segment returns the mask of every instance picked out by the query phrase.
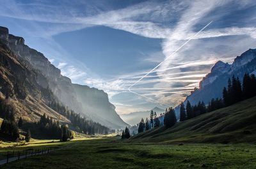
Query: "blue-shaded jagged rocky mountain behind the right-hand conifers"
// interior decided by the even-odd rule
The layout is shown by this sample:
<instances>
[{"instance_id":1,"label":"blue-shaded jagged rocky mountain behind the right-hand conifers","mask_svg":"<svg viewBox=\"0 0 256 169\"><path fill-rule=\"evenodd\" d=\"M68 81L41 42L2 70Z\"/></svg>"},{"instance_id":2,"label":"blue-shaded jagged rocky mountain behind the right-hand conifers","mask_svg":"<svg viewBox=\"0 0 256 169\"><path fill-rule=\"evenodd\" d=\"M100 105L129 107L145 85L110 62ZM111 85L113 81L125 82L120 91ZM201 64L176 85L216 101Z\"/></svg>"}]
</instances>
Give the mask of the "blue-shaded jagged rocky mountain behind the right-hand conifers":
<instances>
[{"instance_id":1,"label":"blue-shaded jagged rocky mountain behind the right-hand conifers","mask_svg":"<svg viewBox=\"0 0 256 169\"><path fill-rule=\"evenodd\" d=\"M245 73L256 74L256 49L249 49L237 56L232 64L216 62L211 72L201 80L199 89L191 92L184 104L186 105L188 100L192 105L198 101L207 104L212 98L222 98L222 90L223 87L227 87L228 78L234 75L242 82ZM175 107L175 112L179 117L179 107Z\"/></svg>"}]
</instances>

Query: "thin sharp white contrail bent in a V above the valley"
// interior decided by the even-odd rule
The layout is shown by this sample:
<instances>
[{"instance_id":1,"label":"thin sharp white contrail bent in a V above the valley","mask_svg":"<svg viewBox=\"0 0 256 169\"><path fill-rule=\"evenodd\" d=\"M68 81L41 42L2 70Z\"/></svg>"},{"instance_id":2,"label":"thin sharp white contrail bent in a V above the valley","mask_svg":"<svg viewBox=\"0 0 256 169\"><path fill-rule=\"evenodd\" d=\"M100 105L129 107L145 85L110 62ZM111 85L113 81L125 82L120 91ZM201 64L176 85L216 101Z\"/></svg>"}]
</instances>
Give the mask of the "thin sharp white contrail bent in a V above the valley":
<instances>
[{"instance_id":1,"label":"thin sharp white contrail bent in a V above the valley","mask_svg":"<svg viewBox=\"0 0 256 169\"><path fill-rule=\"evenodd\" d=\"M183 45L181 45L179 48L177 48L177 50L175 50L171 55L169 55L168 57L166 57L164 59L163 62L165 62L167 59L169 59L169 57L171 57L173 54L177 53L180 48L184 47L190 40L192 40L196 35L198 35L201 31L203 31L207 26L209 26L211 23L213 22L213 20L211 22L209 22L209 24L207 24L205 27L203 27L200 31L198 31L196 34L194 34L193 36L191 36L191 38L189 38L188 41L186 41ZM138 82L140 82L143 78L147 77L148 74L152 73L152 71L156 70L156 68L158 68L159 66L161 66L161 64L163 64L163 62L157 64L157 66L155 68L153 68L152 70L148 71L148 73L146 75L144 75L143 77L141 77L137 82L135 82L134 84L132 84L129 88L128 88L128 91L129 92L132 92L134 94L137 94L143 98L147 98L149 100L152 100L152 101L155 101L157 103L160 103L161 105L165 105L165 106L168 106L168 107L171 107L170 105L166 105L166 104L163 104L161 103L160 101L157 101L156 99L152 99L152 98L148 98L147 96L143 96L142 94L139 94L138 92L134 92L134 91L131 91L131 88L136 85Z\"/></svg>"}]
</instances>

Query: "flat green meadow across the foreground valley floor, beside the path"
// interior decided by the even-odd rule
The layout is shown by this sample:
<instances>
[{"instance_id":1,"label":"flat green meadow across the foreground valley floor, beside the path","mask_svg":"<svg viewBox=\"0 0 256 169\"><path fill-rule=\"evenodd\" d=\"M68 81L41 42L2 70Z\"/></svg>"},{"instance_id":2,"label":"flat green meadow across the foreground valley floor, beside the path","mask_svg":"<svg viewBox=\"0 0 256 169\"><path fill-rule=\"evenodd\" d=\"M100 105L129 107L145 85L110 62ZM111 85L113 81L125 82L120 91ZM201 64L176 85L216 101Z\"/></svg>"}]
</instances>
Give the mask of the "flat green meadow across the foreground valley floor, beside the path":
<instances>
[{"instance_id":1,"label":"flat green meadow across the foreground valley floor, beside the path","mask_svg":"<svg viewBox=\"0 0 256 169\"><path fill-rule=\"evenodd\" d=\"M62 143L61 143L62 144ZM2 168L256 168L255 144L129 143L120 137L67 142L67 149Z\"/></svg>"}]
</instances>

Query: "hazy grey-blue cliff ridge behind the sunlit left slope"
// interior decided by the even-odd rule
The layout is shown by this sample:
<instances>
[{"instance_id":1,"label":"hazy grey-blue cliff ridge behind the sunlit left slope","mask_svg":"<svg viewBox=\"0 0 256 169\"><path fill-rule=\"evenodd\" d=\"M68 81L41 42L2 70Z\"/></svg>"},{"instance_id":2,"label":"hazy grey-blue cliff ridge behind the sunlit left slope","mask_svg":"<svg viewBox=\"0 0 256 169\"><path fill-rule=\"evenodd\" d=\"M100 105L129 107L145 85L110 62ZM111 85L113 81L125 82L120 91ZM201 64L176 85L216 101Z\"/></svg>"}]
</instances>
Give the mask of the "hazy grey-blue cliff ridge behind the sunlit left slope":
<instances>
[{"instance_id":1,"label":"hazy grey-blue cliff ridge behind the sunlit left slope","mask_svg":"<svg viewBox=\"0 0 256 169\"><path fill-rule=\"evenodd\" d=\"M109 103L106 92L72 84L70 78L62 76L61 71L44 54L25 45L24 38L9 34L6 27L0 27L0 40L20 61L42 74L36 79L40 87L49 87L63 105L109 128L129 126L116 114L115 106Z\"/></svg>"}]
</instances>

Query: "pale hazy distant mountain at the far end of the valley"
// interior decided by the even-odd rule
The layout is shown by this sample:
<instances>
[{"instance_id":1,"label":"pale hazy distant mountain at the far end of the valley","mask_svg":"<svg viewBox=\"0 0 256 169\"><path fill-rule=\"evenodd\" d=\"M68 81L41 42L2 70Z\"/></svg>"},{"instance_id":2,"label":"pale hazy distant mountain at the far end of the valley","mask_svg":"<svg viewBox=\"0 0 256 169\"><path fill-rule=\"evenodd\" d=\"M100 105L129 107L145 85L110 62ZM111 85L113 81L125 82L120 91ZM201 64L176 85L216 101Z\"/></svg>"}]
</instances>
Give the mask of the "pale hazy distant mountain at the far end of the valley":
<instances>
[{"instance_id":1,"label":"pale hazy distant mountain at the far end of the valley","mask_svg":"<svg viewBox=\"0 0 256 169\"><path fill-rule=\"evenodd\" d=\"M157 116L165 112L165 110L158 107L152 108L151 110L153 110L153 112L156 112ZM143 118L144 120L146 118L149 119L151 110L122 114L121 117L128 124L135 125L141 121L141 118Z\"/></svg>"}]
</instances>

